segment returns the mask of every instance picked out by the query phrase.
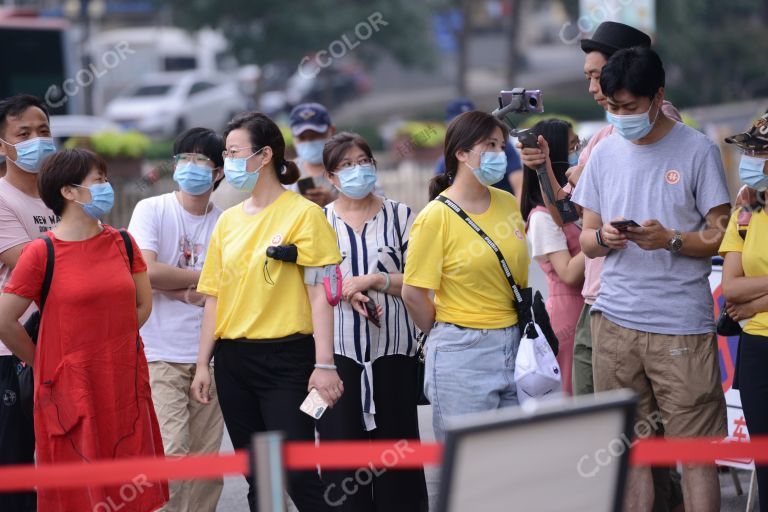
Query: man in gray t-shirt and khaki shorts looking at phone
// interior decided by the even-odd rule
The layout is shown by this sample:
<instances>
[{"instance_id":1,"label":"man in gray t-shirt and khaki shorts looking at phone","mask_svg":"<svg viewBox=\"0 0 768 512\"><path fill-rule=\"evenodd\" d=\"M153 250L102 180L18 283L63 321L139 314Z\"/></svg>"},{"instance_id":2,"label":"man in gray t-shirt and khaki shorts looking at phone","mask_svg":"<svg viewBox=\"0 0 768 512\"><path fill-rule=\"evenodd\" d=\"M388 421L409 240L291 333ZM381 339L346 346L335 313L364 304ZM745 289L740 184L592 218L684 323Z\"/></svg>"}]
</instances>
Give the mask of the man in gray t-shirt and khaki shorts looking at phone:
<instances>
[{"instance_id":1,"label":"man in gray t-shirt and khaki shorts looking at phone","mask_svg":"<svg viewBox=\"0 0 768 512\"><path fill-rule=\"evenodd\" d=\"M606 257L591 317L595 391L639 395L639 437L661 425L670 437L723 436L708 282L730 213L720 152L662 112L664 68L653 50L615 53L600 86L614 133L573 197L584 208L584 253ZM683 466L686 510L720 509L712 462ZM650 468L636 468L627 508L650 510L653 498Z\"/></svg>"}]
</instances>

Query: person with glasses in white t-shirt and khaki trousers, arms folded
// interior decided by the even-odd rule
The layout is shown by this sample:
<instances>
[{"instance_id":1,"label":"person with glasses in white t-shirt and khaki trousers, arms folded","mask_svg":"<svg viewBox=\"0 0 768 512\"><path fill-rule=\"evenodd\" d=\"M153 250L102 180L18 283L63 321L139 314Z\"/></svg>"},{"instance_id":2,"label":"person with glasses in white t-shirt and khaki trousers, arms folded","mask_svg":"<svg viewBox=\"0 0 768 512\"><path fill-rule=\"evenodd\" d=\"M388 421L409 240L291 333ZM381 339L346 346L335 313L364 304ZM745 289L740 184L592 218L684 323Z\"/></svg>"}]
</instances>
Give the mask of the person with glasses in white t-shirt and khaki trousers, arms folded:
<instances>
[{"instance_id":1,"label":"person with glasses in white t-shirt and khaki trousers, arms folded","mask_svg":"<svg viewBox=\"0 0 768 512\"><path fill-rule=\"evenodd\" d=\"M152 284L152 314L141 328L152 400L166 455L183 456L217 452L224 430L216 393L207 406L190 393L204 305L195 290L222 213L210 197L224 177L224 139L213 130L191 128L176 138L173 152L179 190L140 201L129 230ZM222 486L221 479L172 482L163 510L212 512Z\"/></svg>"}]
</instances>

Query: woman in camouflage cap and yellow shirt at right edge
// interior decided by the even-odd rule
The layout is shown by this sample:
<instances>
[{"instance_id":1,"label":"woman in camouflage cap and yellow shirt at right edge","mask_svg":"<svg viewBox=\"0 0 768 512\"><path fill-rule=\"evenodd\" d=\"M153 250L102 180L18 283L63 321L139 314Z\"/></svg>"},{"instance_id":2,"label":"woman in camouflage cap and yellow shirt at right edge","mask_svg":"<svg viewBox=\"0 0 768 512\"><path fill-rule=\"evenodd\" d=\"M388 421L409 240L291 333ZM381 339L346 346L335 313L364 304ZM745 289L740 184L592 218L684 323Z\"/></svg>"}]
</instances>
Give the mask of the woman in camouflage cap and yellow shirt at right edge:
<instances>
[{"instance_id":1,"label":"woman in camouflage cap and yellow shirt at right edge","mask_svg":"<svg viewBox=\"0 0 768 512\"><path fill-rule=\"evenodd\" d=\"M762 129L761 129L762 128ZM748 133L729 137L745 150L739 175L757 191L752 207L731 216L720 245L723 295L728 314L736 321L749 319L739 340L737 374L744 419L750 435L768 434L768 113ZM751 211L751 215L750 215ZM768 512L768 466L757 466L760 510Z\"/></svg>"}]
</instances>

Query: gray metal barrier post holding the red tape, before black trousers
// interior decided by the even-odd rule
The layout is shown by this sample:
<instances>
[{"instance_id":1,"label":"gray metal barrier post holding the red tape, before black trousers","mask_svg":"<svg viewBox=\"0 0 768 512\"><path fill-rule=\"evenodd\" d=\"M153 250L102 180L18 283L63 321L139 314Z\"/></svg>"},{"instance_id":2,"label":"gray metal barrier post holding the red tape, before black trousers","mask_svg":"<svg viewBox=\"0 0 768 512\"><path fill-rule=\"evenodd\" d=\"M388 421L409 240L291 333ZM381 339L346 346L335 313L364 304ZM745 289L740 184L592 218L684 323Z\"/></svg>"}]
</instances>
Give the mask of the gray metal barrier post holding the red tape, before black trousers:
<instances>
[{"instance_id":1,"label":"gray metal barrier post holding the red tape, before black trousers","mask_svg":"<svg viewBox=\"0 0 768 512\"><path fill-rule=\"evenodd\" d=\"M251 469L259 512L286 512L283 434L254 434L251 446Z\"/></svg>"}]
</instances>

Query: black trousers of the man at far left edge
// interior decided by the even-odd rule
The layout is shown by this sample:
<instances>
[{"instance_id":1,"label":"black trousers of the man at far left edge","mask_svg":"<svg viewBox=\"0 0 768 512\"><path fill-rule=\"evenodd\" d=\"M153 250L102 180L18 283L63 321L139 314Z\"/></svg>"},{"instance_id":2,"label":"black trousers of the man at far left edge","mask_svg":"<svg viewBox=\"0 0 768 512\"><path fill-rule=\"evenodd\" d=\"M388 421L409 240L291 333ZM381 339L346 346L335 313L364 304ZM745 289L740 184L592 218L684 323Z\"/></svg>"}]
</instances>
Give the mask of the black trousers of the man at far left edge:
<instances>
[{"instance_id":1,"label":"black trousers of the man at far left edge","mask_svg":"<svg viewBox=\"0 0 768 512\"><path fill-rule=\"evenodd\" d=\"M0 356L0 465L35 462L35 427L19 401L18 362ZM34 492L0 493L0 509L37 510L37 497Z\"/></svg>"}]
</instances>

